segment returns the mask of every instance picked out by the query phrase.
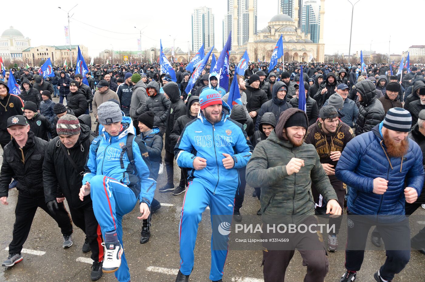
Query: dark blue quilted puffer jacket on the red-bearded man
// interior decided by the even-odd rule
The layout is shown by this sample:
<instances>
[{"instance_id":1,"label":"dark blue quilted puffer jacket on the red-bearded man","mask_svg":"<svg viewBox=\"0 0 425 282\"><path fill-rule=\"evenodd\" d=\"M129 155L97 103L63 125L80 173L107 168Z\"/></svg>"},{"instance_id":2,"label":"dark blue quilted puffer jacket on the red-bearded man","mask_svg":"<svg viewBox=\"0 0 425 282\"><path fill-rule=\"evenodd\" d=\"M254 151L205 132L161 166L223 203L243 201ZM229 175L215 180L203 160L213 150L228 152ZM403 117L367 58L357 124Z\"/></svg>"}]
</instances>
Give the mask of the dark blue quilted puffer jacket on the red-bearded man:
<instances>
[{"instance_id":1,"label":"dark blue quilted puffer jacket on the red-bearded man","mask_svg":"<svg viewBox=\"0 0 425 282\"><path fill-rule=\"evenodd\" d=\"M336 177L352 188L347 209L354 214L404 215L404 188L412 187L418 195L422 191L424 169L419 145L408 139L409 149L403 158L388 156L388 161L382 124L348 142L335 169ZM377 177L388 180L388 189L382 195L372 192Z\"/></svg>"}]
</instances>

